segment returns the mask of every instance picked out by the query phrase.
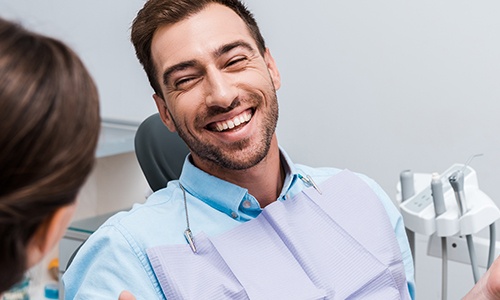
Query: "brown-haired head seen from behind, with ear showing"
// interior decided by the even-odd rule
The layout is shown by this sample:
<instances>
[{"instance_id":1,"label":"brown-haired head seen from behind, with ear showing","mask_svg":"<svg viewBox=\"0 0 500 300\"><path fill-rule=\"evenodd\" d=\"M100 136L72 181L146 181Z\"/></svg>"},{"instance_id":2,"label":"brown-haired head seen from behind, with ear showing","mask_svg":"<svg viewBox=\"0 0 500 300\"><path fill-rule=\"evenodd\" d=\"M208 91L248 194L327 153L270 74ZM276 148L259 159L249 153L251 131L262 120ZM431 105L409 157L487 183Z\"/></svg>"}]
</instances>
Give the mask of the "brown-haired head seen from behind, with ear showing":
<instances>
[{"instance_id":1,"label":"brown-haired head seen from behind, with ear showing","mask_svg":"<svg viewBox=\"0 0 500 300\"><path fill-rule=\"evenodd\" d=\"M77 55L0 19L0 294L66 230L99 128L97 89Z\"/></svg>"}]
</instances>

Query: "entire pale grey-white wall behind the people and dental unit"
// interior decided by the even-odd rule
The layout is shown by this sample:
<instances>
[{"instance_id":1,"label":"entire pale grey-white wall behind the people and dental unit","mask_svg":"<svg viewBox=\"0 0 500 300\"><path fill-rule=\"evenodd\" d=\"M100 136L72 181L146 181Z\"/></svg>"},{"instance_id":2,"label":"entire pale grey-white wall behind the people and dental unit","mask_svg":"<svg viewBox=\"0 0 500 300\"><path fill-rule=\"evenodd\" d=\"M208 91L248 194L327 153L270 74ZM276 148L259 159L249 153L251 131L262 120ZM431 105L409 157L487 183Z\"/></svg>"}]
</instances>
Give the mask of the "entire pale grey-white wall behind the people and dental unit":
<instances>
[{"instance_id":1,"label":"entire pale grey-white wall behind the people and dental unit","mask_svg":"<svg viewBox=\"0 0 500 300\"><path fill-rule=\"evenodd\" d=\"M103 116L142 120L154 106L128 42L142 3L0 0L0 15L74 46L98 81ZM247 3L282 73L279 139L297 162L366 173L394 198L401 170L440 172L484 153L472 166L500 204L500 2ZM440 272L423 256L420 269ZM468 268L457 269L450 299L472 286ZM439 299L438 278L417 274L419 299Z\"/></svg>"}]
</instances>

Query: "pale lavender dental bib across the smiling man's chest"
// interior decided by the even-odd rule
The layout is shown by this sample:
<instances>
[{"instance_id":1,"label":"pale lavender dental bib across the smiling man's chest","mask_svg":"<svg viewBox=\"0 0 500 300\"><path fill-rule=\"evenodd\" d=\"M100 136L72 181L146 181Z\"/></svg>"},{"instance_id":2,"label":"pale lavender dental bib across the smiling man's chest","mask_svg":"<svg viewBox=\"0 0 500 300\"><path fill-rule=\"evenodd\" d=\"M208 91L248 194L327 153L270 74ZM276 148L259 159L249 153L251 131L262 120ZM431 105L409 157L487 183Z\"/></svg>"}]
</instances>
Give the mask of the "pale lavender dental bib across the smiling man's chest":
<instances>
[{"instance_id":1,"label":"pale lavender dental bib across the smiling man's chest","mask_svg":"<svg viewBox=\"0 0 500 300\"><path fill-rule=\"evenodd\" d=\"M343 171L255 219L147 250L167 299L410 299L381 202ZM182 234L180 232L179 234Z\"/></svg>"}]
</instances>

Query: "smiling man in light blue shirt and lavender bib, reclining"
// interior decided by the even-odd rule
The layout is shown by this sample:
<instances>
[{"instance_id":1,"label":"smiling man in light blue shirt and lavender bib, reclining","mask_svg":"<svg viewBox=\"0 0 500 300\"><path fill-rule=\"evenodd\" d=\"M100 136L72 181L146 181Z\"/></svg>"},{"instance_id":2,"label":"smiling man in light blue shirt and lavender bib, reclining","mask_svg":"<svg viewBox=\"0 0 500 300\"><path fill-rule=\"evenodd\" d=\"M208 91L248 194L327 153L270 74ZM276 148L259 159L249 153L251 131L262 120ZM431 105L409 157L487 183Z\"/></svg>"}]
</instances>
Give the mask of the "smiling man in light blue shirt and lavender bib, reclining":
<instances>
[{"instance_id":1,"label":"smiling man in light blue shirt and lavender bib, reclining","mask_svg":"<svg viewBox=\"0 0 500 300\"><path fill-rule=\"evenodd\" d=\"M279 71L241 2L150 0L132 41L190 154L179 180L89 238L67 299L413 296L404 225L382 189L278 146Z\"/></svg>"}]
</instances>

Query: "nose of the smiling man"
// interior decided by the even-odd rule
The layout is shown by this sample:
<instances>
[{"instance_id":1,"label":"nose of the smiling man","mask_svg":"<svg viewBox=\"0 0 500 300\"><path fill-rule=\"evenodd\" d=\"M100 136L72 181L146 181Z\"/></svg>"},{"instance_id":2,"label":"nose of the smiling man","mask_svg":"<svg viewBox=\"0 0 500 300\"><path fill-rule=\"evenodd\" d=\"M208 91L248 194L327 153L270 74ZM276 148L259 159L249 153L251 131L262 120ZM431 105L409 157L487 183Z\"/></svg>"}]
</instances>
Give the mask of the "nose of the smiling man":
<instances>
[{"instance_id":1,"label":"nose of the smiling man","mask_svg":"<svg viewBox=\"0 0 500 300\"><path fill-rule=\"evenodd\" d=\"M227 108L238 97L238 91L231 74L226 74L220 70L212 70L207 74L207 97L208 107L218 106Z\"/></svg>"}]
</instances>

